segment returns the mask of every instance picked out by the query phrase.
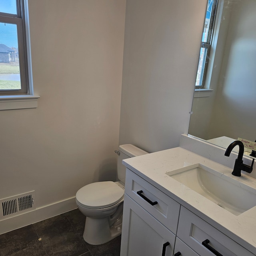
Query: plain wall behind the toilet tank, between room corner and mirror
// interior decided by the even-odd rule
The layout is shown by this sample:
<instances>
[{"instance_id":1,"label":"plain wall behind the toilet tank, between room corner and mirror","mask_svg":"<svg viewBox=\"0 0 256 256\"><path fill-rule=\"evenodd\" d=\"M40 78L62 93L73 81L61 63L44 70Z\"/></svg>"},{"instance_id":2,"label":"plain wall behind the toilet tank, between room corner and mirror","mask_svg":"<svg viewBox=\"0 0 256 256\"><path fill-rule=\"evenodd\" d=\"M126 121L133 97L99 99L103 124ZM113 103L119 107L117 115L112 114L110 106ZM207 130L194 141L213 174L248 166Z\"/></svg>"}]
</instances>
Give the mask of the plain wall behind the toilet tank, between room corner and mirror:
<instances>
[{"instance_id":1,"label":"plain wall behind the toilet tank, between room corner and mirror","mask_svg":"<svg viewBox=\"0 0 256 256\"><path fill-rule=\"evenodd\" d=\"M127 0L120 144L154 152L188 132L207 0Z\"/></svg>"}]
</instances>

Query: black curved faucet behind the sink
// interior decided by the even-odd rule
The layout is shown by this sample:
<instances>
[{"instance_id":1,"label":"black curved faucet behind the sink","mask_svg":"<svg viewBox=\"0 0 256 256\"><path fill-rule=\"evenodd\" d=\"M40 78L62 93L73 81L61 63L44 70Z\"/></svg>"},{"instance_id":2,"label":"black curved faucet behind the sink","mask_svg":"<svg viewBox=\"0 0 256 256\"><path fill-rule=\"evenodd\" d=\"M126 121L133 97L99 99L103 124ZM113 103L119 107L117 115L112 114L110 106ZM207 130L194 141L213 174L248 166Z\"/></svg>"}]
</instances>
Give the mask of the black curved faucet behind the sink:
<instances>
[{"instance_id":1,"label":"black curved faucet behind the sink","mask_svg":"<svg viewBox=\"0 0 256 256\"><path fill-rule=\"evenodd\" d=\"M251 166L247 164L243 164L244 144L240 140L235 140L228 146L225 152L225 156L230 156L230 153L235 146L239 146L239 152L238 152L238 158L235 161L234 170L232 174L234 176L241 176L241 171L251 173L254 159L252 160Z\"/></svg>"}]
</instances>

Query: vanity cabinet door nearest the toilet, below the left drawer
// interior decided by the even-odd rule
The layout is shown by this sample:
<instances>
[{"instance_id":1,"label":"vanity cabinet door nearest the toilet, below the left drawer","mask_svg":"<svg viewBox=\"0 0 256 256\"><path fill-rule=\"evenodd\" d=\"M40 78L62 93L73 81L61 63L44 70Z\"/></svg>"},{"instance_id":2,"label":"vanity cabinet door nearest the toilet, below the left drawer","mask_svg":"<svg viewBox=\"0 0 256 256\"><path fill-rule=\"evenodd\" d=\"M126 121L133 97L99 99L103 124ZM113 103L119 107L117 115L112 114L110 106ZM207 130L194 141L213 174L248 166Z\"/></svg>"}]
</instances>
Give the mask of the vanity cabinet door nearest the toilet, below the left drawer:
<instances>
[{"instance_id":1,"label":"vanity cabinet door nearest the toilet, below the left drawer","mask_svg":"<svg viewBox=\"0 0 256 256\"><path fill-rule=\"evenodd\" d=\"M174 243L175 235L170 230L124 195L120 256L172 256Z\"/></svg>"}]
</instances>

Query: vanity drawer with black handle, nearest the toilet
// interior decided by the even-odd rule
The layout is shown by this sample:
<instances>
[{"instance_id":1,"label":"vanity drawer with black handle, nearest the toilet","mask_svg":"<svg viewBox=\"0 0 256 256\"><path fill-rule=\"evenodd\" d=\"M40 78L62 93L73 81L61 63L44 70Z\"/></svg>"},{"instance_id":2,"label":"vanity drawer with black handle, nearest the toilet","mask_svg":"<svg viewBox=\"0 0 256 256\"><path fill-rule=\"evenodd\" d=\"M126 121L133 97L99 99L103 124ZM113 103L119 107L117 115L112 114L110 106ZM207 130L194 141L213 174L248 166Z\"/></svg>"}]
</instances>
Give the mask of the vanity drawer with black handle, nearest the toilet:
<instances>
[{"instance_id":1,"label":"vanity drawer with black handle, nearest the toilet","mask_svg":"<svg viewBox=\"0 0 256 256\"><path fill-rule=\"evenodd\" d=\"M140 192L140 195L137 192ZM126 169L125 193L176 234L180 212L178 202L129 169ZM151 205L150 202L146 201L146 198L142 198L144 196L152 202L157 202L157 204Z\"/></svg>"}]
</instances>

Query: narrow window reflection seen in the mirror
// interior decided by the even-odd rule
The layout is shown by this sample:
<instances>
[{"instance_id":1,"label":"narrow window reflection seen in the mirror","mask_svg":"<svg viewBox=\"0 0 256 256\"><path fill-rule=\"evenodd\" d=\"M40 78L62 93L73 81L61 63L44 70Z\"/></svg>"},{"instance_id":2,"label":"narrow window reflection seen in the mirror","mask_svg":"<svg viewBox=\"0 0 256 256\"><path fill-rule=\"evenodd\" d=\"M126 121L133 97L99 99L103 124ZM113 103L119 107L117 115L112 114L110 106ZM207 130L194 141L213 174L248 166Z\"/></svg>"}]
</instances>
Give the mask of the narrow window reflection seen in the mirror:
<instances>
[{"instance_id":1,"label":"narrow window reflection seen in the mirror","mask_svg":"<svg viewBox=\"0 0 256 256\"><path fill-rule=\"evenodd\" d=\"M210 50L212 43L212 34L214 30L214 19L216 16L218 0L208 0L206 10L206 18L204 23L204 31L202 35L202 44L200 50L200 58L196 75L196 89L204 89L206 82L206 74L208 62L210 59Z\"/></svg>"}]
</instances>

